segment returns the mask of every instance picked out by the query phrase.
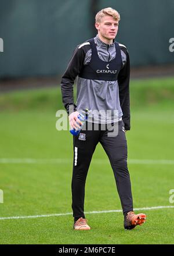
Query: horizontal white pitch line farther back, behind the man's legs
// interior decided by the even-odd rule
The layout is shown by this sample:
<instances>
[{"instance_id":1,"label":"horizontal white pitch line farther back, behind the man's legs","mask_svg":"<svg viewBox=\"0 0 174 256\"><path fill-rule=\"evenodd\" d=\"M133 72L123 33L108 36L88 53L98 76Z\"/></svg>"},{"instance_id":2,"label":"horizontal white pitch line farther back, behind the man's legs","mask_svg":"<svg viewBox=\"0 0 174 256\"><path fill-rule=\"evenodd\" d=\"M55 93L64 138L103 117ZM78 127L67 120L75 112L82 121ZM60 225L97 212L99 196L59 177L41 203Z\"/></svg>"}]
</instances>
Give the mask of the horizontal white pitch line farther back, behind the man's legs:
<instances>
[{"instance_id":1,"label":"horizontal white pitch line farther back, behind the man's legs","mask_svg":"<svg viewBox=\"0 0 174 256\"><path fill-rule=\"evenodd\" d=\"M0 163L73 163L73 158L52 158L52 159L37 159L37 158L0 158ZM94 158L92 163L104 164L109 163L108 159ZM170 159L128 159L129 164L138 165L174 165L174 160Z\"/></svg>"}]
</instances>

